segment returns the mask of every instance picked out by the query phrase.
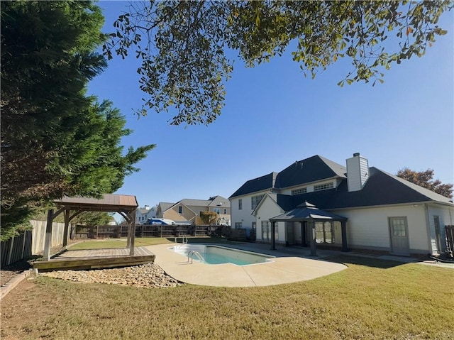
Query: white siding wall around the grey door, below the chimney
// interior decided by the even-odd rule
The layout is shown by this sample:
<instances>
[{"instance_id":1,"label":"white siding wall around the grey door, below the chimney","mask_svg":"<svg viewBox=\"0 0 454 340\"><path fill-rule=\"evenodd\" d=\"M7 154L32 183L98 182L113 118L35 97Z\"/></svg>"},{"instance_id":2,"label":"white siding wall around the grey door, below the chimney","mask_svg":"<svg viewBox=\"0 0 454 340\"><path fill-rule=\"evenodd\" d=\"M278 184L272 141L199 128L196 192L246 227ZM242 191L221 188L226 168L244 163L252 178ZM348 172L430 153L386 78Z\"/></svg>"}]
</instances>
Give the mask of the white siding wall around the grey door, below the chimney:
<instances>
[{"instance_id":1,"label":"white siding wall around the grey door, below the chimney","mask_svg":"<svg viewBox=\"0 0 454 340\"><path fill-rule=\"evenodd\" d=\"M350 248L391 251L388 219L389 217L405 216L409 229L410 253L429 252L430 243L423 204L416 207L406 205L402 207L342 209L335 213L348 218L347 236ZM338 243L337 230L336 243Z\"/></svg>"}]
</instances>

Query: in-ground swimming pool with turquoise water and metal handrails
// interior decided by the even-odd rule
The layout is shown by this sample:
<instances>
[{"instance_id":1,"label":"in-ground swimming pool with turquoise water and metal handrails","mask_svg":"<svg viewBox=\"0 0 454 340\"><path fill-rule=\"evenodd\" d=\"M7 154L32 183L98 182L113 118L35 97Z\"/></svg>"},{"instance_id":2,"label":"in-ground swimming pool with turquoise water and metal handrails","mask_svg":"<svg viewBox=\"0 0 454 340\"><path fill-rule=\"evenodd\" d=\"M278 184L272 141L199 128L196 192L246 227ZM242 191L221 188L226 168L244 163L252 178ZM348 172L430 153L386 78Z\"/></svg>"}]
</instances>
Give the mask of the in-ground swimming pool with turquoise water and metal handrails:
<instances>
[{"instance_id":1,"label":"in-ground swimming pool with turquoise water and metal handrails","mask_svg":"<svg viewBox=\"0 0 454 340\"><path fill-rule=\"evenodd\" d=\"M187 257L190 251L198 252L204 263L218 265L221 263L233 263L234 265L253 265L258 263L272 262L270 258L275 256L253 253L252 251L241 251L239 249L223 246L206 246L203 244L182 244L173 246L172 251ZM192 256L194 261L199 261L198 256Z\"/></svg>"}]
</instances>

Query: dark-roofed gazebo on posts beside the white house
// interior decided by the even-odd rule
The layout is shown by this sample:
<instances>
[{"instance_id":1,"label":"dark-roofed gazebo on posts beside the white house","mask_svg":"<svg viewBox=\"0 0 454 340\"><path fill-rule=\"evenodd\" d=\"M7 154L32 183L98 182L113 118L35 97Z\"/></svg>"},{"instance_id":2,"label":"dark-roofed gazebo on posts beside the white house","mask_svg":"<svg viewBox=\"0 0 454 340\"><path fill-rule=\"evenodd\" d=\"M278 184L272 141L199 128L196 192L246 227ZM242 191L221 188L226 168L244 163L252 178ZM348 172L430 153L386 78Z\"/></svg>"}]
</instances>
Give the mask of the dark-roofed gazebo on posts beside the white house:
<instances>
[{"instance_id":1,"label":"dark-roofed gazebo on posts beside the white house","mask_svg":"<svg viewBox=\"0 0 454 340\"><path fill-rule=\"evenodd\" d=\"M299 204L295 209L290 210L282 215L272 217L271 221L271 248L276 249L275 240L275 223L279 221L283 222L300 222L301 224L301 235L304 235L304 224L309 223L311 227L311 255L316 256L316 233L315 233L315 222L316 221L340 221L341 222L341 234L342 234L342 251L348 251L347 246L347 218L326 212L318 209L314 204L304 202ZM302 239L304 237L301 236Z\"/></svg>"}]
</instances>

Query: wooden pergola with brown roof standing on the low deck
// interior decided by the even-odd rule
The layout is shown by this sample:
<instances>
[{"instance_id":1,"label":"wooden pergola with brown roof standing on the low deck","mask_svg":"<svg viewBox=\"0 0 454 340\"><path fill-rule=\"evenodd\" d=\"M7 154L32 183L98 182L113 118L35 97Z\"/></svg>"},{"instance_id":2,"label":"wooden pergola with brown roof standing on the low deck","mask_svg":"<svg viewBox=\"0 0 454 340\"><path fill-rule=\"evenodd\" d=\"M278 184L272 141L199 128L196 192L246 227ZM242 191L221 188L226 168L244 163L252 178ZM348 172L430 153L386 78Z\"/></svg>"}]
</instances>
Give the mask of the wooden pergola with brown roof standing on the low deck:
<instances>
[{"instance_id":1,"label":"wooden pergola with brown roof standing on the low deck","mask_svg":"<svg viewBox=\"0 0 454 340\"><path fill-rule=\"evenodd\" d=\"M48 222L45 230L44 260L50 259L50 243L52 241L52 223L60 214L65 217L65 229L63 231L63 248L67 247L70 221L82 212L117 212L128 222L129 255L134 255L135 237L135 211L138 208L137 199L132 195L104 194L101 199L86 197L63 197L54 202L57 211L48 211Z\"/></svg>"}]
</instances>

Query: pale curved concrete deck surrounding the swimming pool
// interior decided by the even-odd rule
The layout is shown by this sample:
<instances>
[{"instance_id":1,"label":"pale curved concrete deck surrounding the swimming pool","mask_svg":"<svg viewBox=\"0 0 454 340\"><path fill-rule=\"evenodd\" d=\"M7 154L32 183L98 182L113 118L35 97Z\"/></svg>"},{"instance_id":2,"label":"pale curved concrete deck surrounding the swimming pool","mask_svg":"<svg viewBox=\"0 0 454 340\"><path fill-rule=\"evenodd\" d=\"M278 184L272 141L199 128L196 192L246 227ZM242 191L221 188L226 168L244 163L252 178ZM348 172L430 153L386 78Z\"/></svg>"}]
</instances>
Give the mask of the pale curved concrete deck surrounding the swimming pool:
<instances>
[{"instance_id":1,"label":"pale curved concrete deck surrounding the swimming pool","mask_svg":"<svg viewBox=\"0 0 454 340\"><path fill-rule=\"evenodd\" d=\"M181 243L179 243L181 244ZM266 253L276 258L269 263L254 265L233 265L225 263L209 265L195 261L190 263L187 257L175 253L171 249L177 243L146 246L155 254L155 263L168 275L181 282L192 285L216 287L254 287L295 283L320 278L324 275L337 273L347 268L341 263L323 261L323 258L306 258L303 254L289 256L289 253L265 251L260 246L231 246L246 251ZM227 246L227 245L222 245ZM230 246L228 246L230 247Z\"/></svg>"}]
</instances>

